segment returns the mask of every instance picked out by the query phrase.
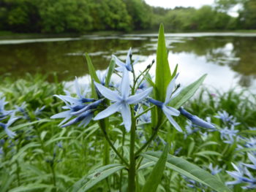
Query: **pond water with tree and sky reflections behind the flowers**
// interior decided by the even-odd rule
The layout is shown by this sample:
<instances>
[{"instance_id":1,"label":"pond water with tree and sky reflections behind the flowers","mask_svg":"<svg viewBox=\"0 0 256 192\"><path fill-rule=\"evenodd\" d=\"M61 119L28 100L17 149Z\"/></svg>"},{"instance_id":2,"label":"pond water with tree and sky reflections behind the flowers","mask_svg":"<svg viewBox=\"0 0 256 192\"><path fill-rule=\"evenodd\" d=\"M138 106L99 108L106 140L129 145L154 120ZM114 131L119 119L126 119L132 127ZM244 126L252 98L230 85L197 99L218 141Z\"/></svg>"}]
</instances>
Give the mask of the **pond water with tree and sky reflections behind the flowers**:
<instances>
[{"instance_id":1,"label":"pond water with tree and sky reflections behind the flowers","mask_svg":"<svg viewBox=\"0 0 256 192\"><path fill-rule=\"evenodd\" d=\"M222 90L235 87L256 90L256 34L190 33L165 36L170 67L173 69L179 64L181 83L187 84L207 73L207 86ZM62 81L73 80L75 76L83 80L88 73L83 53L91 55L96 69L104 70L112 54L124 60L129 47L132 47L134 57L140 58L135 69L143 70L156 57L157 34L0 39L0 74L20 78L26 72L56 72Z\"/></svg>"}]
</instances>

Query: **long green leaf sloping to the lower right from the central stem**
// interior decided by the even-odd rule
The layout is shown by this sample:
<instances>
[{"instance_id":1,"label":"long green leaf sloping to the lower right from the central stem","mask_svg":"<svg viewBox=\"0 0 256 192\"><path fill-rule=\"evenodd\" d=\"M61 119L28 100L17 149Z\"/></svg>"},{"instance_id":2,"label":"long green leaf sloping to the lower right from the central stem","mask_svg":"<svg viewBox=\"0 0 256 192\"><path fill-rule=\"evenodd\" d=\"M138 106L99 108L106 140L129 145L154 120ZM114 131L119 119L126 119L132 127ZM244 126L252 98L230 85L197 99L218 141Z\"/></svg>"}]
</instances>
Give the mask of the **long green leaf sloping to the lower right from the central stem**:
<instances>
[{"instance_id":1,"label":"long green leaf sloping to the lower right from the central stem","mask_svg":"<svg viewBox=\"0 0 256 192\"><path fill-rule=\"evenodd\" d=\"M152 161L158 161L161 153L148 151L146 153L141 154L144 158L148 158ZM218 180L217 177L206 172L206 170L201 169L199 166L195 164L189 163L184 158L178 158L173 155L167 156L166 165L168 168L173 169L174 171L183 174L186 177L189 177L192 180L195 180L199 183L207 185L208 187L214 189L214 191L218 192L227 192L230 191L224 183Z\"/></svg>"}]
</instances>

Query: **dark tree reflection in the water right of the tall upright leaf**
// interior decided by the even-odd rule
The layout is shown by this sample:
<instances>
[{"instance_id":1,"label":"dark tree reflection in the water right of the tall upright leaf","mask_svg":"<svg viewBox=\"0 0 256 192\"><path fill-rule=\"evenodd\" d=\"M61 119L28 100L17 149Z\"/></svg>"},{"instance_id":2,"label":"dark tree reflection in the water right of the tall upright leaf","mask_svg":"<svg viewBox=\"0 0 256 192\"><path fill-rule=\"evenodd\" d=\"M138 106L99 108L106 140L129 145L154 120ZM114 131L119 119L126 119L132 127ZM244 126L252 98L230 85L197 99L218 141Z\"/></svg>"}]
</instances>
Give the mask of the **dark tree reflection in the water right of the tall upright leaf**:
<instances>
[{"instance_id":1,"label":"dark tree reflection in the water right of the tall upright leaf","mask_svg":"<svg viewBox=\"0 0 256 192\"><path fill-rule=\"evenodd\" d=\"M241 74L239 84L256 78L256 37L197 37L174 42L173 53L194 53L214 64L228 65Z\"/></svg>"}]
</instances>

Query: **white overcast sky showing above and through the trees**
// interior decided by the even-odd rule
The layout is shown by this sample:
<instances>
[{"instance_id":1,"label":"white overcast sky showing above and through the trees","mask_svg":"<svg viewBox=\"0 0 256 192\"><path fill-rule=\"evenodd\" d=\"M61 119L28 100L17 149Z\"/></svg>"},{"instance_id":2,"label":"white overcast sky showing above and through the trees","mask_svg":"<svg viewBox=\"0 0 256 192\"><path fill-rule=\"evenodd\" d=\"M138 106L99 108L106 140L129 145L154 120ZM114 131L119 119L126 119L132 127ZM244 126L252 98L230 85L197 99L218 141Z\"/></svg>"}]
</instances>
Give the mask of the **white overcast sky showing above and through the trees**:
<instances>
[{"instance_id":1,"label":"white overcast sky showing above and through the trees","mask_svg":"<svg viewBox=\"0 0 256 192\"><path fill-rule=\"evenodd\" d=\"M203 5L213 5L214 0L144 0L147 4L154 7L164 7L164 8L175 8L175 7L195 7L200 8ZM230 9L227 14L237 17L238 9L240 7L236 6Z\"/></svg>"}]
</instances>

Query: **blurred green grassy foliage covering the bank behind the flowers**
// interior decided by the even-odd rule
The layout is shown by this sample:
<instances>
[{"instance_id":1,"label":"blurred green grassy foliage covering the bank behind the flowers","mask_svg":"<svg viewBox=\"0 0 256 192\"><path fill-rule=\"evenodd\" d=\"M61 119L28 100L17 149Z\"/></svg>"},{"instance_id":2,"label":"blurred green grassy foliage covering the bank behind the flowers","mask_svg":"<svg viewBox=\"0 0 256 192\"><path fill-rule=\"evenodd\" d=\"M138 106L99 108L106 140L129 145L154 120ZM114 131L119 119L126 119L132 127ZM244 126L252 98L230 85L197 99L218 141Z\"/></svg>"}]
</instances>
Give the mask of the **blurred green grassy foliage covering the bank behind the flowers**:
<instances>
[{"instance_id":1,"label":"blurred green grassy foliage covering the bank behind the flowers","mask_svg":"<svg viewBox=\"0 0 256 192\"><path fill-rule=\"evenodd\" d=\"M102 165L104 142L97 123L91 122L86 128L77 125L59 128L60 121L49 118L63 111L61 109L63 103L53 97L53 94L64 94L63 89L64 85L61 83L46 82L45 77L41 75L28 75L25 80L13 81L9 78L1 80L0 92L9 102L7 110L12 110L15 106L26 102L26 113L29 118L21 118L12 126L12 131L18 134L15 139L7 139L4 131L0 132L0 148L4 152L0 156L0 191L67 191L90 170ZM203 88L184 107L200 118L210 117L219 129L227 124L215 116L219 111L227 111L241 123L236 129L239 131L238 135L245 138L256 134L255 131L243 133L249 127L255 128L255 104L256 96L246 89L241 92L230 90L219 93ZM34 111L37 107L42 106L45 106L42 114L35 115ZM184 132L178 133L167 123L148 150L162 150L165 142L171 143L170 154L184 157L203 169L208 169L210 163L214 166L218 165L222 171L217 177L226 181L233 180L225 172L225 170L233 171L231 163L238 164L241 161L250 163L246 153L238 151L238 145L243 145L244 139L229 145L223 142L218 131L194 128L194 132L189 134L185 129L186 119L176 120ZM124 130L120 123L116 117L110 118L110 139L119 151L121 148L124 149L124 157L129 158L129 154L125 153L129 147L128 143L123 142L125 137L129 139L129 134L124 136L121 134ZM136 142L138 146L142 145L151 133L151 128L147 125L144 125L143 129L146 133L138 134ZM189 136L186 137L186 134ZM113 151L110 153L110 162L119 163ZM143 161L144 163L146 161ZM141 184L145 183L151 170L149 168L139 172L138 180ZM121 175L113 174L108 178L108 183L104 180L90 191L118 191L119 188L124 191L122 188L125 188L127 183L127 173L122 172L122 175L122 186L118 185ZM205 191L211 191L198 183L193 183L195 188L190 188L188 184L191 182L167 169L158 191L202 191L203 188ZM235 186L233 191L242 190L239 186Z\"/></svg>"}]
</instances>

